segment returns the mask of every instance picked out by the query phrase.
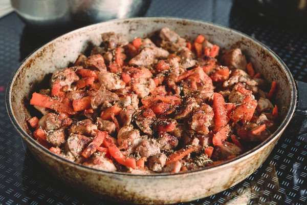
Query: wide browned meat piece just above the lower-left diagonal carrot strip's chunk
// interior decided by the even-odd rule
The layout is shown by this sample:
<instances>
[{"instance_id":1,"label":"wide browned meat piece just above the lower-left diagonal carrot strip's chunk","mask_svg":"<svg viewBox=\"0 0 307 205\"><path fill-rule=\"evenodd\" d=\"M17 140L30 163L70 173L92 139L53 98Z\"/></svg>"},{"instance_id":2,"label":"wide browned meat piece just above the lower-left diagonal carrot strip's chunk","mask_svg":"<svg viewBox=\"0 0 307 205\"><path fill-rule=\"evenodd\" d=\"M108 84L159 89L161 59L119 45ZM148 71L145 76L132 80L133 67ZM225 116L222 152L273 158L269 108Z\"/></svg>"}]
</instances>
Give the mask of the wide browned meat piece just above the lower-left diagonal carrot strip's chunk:
<instances>
[{"instance_id":1,"label":"wide browned meat piece just above the lower-left diagonal carrot strip's chunk","mask_svg":"<svg viewBox=\"0 0 307 205\"><path fill-rule=\"evenodd\" d=\"M69 134L79 133L83 135L94 136L96 134L94 130L97 129L97 125L95 125L91 119L83 119L70 127Z\"/></svg>"}]
</instances>

